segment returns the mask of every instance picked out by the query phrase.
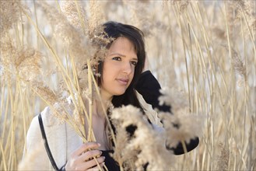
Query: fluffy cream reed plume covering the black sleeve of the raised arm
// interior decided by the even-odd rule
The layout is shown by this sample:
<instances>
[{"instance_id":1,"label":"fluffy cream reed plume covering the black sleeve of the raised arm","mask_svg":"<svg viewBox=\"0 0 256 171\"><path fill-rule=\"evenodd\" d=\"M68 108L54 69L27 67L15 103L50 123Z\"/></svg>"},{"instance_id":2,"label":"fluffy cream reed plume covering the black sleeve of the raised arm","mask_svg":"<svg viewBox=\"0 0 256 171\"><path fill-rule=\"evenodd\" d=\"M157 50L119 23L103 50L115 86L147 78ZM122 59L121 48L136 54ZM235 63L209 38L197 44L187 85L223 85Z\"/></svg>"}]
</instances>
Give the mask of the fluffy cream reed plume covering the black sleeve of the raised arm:
<instances>
[{"instance_id":1,"label":"fluffy cream reed plume covering the black sleeve of the raised arm","mask_svg":"<svg viewBox=\"0 0 256 171\"><path fill-rule=\"evenodd\" d=\"M172 113L159 112L160 120L165 128L167 146L176 147L179 142L190 142L191 139L202 135L204 118L191 113L188 100L174 88L162 89L163 96L160 96L160 105L172 106ZM193 120L193 122L191 122Z\"/></svg>"}]
</instances>

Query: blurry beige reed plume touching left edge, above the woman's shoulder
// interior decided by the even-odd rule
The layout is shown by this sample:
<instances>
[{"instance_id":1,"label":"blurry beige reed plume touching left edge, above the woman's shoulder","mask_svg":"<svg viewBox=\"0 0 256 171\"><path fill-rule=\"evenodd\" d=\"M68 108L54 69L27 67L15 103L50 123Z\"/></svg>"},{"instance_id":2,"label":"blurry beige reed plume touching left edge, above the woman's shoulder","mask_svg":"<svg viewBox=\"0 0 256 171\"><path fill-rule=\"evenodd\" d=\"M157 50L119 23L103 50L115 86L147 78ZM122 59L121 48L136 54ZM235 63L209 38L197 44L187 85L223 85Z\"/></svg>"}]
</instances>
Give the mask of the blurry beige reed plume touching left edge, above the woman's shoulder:
<instances>
[{"instance_id":1,"label":"blurry beige reed plume touching left edge, above the woman's shoulder","mask_svg":"<svg viewBox=\"0 0 256 171\"><path fill-rule=\"evenodd\" d=\"M7 35L1 37L1 44L1 65L6 75L17 75L25 82L41 79L43 54L32 47L16 47Z\"/></svg>"}]
</instances>

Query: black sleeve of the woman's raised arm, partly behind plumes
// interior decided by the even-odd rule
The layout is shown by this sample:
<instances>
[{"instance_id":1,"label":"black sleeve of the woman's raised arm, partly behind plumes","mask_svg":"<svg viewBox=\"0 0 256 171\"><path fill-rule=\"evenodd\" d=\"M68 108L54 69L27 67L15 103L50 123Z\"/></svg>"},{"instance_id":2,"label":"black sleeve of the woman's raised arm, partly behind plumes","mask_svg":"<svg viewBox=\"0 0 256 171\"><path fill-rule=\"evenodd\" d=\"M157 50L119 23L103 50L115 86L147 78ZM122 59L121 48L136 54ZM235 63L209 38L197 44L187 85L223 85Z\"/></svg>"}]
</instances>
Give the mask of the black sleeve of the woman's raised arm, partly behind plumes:
<instances>
[{"instance_id":1,"label":"black sleeve of the woman's raised arm, partly behind plumes","mask_svg":"<svg viewBox=\"0 0 256 171\"><path fill-rule=\"evenodd\" d=\"M153 106L153 109L158 109L163 112L171 113L171 106L160 106L160 101L158 98L162 95L160 92L161 86L150 71L143 72L140 75L139 81L137 82L135 89L143 96L143 99L145 99L146 103L149 103ZM198 146L199 138L191 139L189 144L185 144L187 151L190 152L192 149ZM184 154L184 149L181 143L179 143L176 148L167 147L167 149L173 150L175 155Z\"/></svg>"}]
</instances>

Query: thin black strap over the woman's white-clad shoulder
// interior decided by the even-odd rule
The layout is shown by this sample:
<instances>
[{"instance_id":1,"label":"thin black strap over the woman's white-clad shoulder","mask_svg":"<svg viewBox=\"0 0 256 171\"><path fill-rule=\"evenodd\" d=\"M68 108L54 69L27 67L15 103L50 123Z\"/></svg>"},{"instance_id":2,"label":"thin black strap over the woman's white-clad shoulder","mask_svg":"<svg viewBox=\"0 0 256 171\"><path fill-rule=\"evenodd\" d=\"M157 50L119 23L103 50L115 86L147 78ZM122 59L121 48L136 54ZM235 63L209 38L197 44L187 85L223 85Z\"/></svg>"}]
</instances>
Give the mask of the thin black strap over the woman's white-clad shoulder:
<instances>
[{"instance_id":1,"label":"thin black strap over the woman's white-clad shoulder","mask_svg":"<svg viewBox=\"0 0 256 171\"><path fill-rule=\"evenodd\" d=\"M47 142L47 138L46 138L46 134L45 134L45 131L44 131L44 124L43 124L43 120L42 120L42 117L41 117L41 113L38 115L38 121L39 121L39 125L40 125L40 131L41 131L41 134L42 134L42 138L44 140L44 147L46 149L46 152L47 152L47 155L51 161L51 165L54 167L55 170L59 170L58 169L58 166L56 165L56 162L54 161L54 158L51 154L51 150L49 148L49 145L48 145L48 142Z\"/></svg>"}]
</instances>

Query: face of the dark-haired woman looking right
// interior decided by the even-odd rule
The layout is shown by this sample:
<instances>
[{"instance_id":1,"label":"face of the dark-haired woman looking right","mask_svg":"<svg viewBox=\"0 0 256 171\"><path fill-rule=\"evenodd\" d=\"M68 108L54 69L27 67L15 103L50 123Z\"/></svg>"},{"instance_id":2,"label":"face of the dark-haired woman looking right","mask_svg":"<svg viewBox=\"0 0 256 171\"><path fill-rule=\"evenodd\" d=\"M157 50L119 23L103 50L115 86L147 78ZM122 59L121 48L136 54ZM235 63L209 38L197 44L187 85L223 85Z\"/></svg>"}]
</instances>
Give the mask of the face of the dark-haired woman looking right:
<instances>
[{"instance_id":1,"label":"face of the dark-haired woman looking right","mask_svg":"<svg viewBox=\"0 0 256 171\"><path fill-rule=\"evenodd\" d=\"M111 44L103 62L103 81L100 86L103 99L124 94L132 82L137 62L137 54L131 41L118 37Z\"/></svg>"}]
</instances>

